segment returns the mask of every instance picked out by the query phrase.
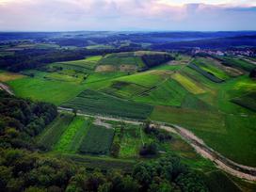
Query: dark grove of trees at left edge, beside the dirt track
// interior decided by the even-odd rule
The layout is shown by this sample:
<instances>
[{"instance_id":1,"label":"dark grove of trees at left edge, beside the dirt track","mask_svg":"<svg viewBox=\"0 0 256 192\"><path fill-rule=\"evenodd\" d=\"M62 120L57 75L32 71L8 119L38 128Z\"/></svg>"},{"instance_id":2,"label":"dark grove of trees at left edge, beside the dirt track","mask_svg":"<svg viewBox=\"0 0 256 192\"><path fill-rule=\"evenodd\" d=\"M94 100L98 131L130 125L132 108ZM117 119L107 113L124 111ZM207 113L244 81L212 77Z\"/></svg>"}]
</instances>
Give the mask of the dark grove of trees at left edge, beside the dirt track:
<instances>
[{"instance_id":1,"label":"dark grove of trees at left edge, beside the dirt track","mask_svg":"<svg viewBox=\"0 0 256 192\"><path fill-rule=\"evenodd\" d=\"M33 137L56 118L53 104L34 103L0 91L0 146L33 150Z\"/></svg>"}]
</instances>

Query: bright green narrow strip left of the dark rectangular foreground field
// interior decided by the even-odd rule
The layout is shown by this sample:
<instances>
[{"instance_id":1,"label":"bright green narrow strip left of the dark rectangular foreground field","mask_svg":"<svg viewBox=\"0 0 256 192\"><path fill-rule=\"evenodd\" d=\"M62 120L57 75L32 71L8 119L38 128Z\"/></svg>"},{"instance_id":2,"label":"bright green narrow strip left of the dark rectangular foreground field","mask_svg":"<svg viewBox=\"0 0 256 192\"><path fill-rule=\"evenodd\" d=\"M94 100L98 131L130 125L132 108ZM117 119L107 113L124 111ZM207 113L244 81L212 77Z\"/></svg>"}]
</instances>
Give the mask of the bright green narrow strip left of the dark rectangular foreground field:
<instances>
[{"instance_id":1,"label":"bright green narrow strip left of the dark rectangular foreground field","mask_svg":"<svg viewBox=\"0 0 256 192\"><path fill-rule=\"evenodd\" d=\"M72 141L77 141L77 140L74 140L73 137L76 136L76 133L79 130L84 128L85 122L86 122L86 118L75 117L70 123L70 125L67 127L65 132L62 134L62 136L60 136L59 140L57 141L54 147L54 150L58 152L72 151L73 149L70 147L72 144Z\"/></svg>"}]
</instances>

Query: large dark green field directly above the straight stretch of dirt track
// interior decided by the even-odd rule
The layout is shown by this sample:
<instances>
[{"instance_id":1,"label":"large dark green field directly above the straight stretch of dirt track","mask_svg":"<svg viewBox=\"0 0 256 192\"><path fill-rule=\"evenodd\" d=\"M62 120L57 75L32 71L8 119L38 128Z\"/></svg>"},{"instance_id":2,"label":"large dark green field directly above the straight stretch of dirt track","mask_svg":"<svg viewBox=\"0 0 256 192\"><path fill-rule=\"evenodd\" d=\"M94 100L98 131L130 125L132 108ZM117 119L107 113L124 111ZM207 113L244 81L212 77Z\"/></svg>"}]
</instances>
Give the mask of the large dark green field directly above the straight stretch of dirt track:
<instances>
[{"instance_id":1,"label":"large dark green field directly above the straight stretch of dirt track","mask_svg":"<svg viewBox=\"0 0 256 192\"><path fill-rule=\"evenodd\" d=\"M142 120L147 119L152 112L151 105L121 100L89 89L83 91L68 103L62 104L62 106L76 108L90 114L102 114Z\"/></svg>"}]
</instances>

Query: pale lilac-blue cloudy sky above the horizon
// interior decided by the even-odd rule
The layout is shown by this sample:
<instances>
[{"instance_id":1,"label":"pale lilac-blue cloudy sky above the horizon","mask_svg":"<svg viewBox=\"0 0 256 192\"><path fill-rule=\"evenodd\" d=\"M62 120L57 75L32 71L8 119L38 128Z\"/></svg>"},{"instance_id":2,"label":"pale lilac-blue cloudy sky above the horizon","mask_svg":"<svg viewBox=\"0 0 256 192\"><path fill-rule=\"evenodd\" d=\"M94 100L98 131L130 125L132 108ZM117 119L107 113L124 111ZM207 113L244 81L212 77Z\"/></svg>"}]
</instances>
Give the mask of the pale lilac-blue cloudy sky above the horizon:
<instances>
[{"instance_id":1,"label":"pale lilac-blue cloudy sky above the horizon","mask_svg":"<svg viewBox=\"0 0 256 192\"><path fill-rule=\"evenodd\" d=\"M256 30L256 0L0 0L0 31Z\"/></svg>"}]
</instances>

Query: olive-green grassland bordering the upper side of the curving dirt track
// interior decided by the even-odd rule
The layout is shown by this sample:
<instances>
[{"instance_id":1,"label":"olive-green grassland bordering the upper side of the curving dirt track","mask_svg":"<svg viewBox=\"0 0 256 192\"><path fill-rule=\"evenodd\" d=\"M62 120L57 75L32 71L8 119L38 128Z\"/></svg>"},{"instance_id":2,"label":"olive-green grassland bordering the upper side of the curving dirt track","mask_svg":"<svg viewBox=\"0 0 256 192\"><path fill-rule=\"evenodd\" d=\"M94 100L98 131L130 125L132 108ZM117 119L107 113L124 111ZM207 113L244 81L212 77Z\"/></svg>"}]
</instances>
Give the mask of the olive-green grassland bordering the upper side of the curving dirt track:
<instances>
[{"instance_id":1,"label":"olive-green grassland bordering the upper side of the curving dirt track","mask_svg":"<svg viewBox=\"0 0 256 192\"><path fill-rule=\"evenodd\" d=\"M226 157L244 165L256 166L255 115L243 117L157 106L151 119L181 125Z\"/></svg>"}]
</instances>

